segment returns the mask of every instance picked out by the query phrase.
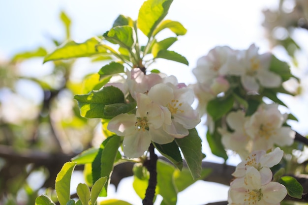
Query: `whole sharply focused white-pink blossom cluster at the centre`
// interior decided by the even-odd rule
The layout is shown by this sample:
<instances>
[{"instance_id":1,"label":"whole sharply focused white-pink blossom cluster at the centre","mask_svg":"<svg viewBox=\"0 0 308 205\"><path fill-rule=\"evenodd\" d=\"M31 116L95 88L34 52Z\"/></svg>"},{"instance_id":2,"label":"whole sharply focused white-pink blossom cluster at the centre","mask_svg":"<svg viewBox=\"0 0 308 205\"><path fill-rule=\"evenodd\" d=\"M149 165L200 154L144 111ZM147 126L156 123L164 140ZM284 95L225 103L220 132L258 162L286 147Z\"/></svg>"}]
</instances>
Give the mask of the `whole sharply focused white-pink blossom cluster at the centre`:
<instances>
[{"instance_id":1,"label":"whole sharply focused white-pink blossom cluster at the centre","mask_svg":"<svg viewBox=\"0 0 308 205\"><path fill-rule=\"evenodd\" d=\"M123 138L123 152L127 157L140 157L151 142L171 143L175 138L187 136L188 130L200 121L191 104L191 88L178 83L174 76L161 73L145 75L139 68L127 71L122 84L109 84L130 94L136 101L136 112L112 118L108 130Z\"/></svg>"}]
</instances>

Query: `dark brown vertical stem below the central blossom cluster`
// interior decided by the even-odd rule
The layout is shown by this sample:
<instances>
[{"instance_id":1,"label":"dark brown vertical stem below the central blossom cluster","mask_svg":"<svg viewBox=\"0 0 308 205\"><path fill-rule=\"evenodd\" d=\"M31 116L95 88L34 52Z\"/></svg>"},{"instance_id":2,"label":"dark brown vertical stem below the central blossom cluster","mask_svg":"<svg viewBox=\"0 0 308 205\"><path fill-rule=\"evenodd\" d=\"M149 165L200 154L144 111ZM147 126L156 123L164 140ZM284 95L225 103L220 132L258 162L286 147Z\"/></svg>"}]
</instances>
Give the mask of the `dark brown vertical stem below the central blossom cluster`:
<instances>
[{"instance_id":1,"label":"dark brown vertical stem below the central blossom cluster","mask_svg":"<svg viewBox=\"0 0 308 205\"><path fill-rule=\"evenodd\" d=\"M146 160L143 164L150 173L149 185L146 191L146 196L144 200L142 200L143 205L153 205L155 196L155 187L157 184L157 172L156 172L157 155L154 152L154 146L152 143L149 146L149 152L150 152L150 159Z\"/></svg>"}]
</instances>

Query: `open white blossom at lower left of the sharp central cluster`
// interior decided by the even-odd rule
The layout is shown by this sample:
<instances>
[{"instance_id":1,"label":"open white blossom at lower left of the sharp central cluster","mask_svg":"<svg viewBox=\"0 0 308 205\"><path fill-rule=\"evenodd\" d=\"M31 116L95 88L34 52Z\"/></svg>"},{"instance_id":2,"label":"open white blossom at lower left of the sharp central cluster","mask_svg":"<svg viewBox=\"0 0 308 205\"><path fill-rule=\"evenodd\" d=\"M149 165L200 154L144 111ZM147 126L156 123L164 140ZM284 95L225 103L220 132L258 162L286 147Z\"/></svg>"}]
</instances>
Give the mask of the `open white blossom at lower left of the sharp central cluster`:
<instances>
[{"instance_id":1,"label":"open white blossom at lower left of the sharp central cluster","mask_svg":"<svg viewBox=\"0 0 308 205\"><path fill-rule=\"evenodd\" d=\"M107 126L123 138L123 152L127 157L140 157L148 150L151 142L170 143L174 138L159 129L164 123L171 124L168 109L155 103L143 93L137 93L137 110L134 114L120 114L112 118Z\"/></svg>"}]
</instances>

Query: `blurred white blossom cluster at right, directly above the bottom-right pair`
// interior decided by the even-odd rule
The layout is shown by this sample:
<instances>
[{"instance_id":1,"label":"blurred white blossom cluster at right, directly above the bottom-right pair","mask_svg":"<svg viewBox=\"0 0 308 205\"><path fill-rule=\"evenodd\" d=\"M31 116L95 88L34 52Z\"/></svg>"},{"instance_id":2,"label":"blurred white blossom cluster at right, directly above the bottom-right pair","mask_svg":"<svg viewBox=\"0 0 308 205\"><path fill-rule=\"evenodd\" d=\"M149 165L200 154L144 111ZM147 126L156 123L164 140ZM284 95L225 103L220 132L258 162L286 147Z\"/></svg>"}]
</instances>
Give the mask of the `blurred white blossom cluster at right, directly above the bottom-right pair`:
<instances>
[{"instance_id":1,"label":"blurred white blossom cluster at right, directly above the bottom-right pair","mask_svg":"<svg viewBox=\"0 0 308 205\"><path fill-rule=\"evenodd\" d=\"M290 146L294 142L295 131L283 126L287 114L281 114L277 104L261 104L249 117L238 110L226 117L230 132L220 128L221 141L225 148L236 151L242 158L256 150L269 150L276 146Z\"/></svg>"}]
</instances>

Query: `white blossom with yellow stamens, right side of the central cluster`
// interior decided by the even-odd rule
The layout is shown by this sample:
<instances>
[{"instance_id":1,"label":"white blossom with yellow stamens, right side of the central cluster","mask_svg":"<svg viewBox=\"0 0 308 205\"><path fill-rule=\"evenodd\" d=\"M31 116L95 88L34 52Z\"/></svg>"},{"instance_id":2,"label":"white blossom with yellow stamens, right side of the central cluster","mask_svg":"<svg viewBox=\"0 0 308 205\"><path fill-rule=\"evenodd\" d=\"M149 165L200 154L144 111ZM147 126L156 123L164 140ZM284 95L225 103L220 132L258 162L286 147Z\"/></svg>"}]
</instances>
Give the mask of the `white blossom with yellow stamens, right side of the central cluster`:
<instances>
[{"instance_id":1,"label":"white blossom with yellow stamens, right side of the central cluster","mask_svg":"<svg viewBox=\"0 0 308 205\"><path fill-rule=\"evenodd\" d=\"M191 107L194 94L190 88L180 88L173 84L157 84L153 86L148 96L154 103L167 108L171 113L171 124L164 123L163 129L175 138L188 135L188 129L200 123L199 114Z\"/></svg>"}]
</instances>

